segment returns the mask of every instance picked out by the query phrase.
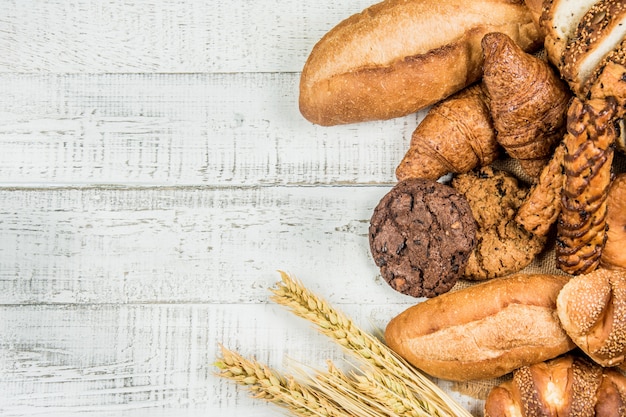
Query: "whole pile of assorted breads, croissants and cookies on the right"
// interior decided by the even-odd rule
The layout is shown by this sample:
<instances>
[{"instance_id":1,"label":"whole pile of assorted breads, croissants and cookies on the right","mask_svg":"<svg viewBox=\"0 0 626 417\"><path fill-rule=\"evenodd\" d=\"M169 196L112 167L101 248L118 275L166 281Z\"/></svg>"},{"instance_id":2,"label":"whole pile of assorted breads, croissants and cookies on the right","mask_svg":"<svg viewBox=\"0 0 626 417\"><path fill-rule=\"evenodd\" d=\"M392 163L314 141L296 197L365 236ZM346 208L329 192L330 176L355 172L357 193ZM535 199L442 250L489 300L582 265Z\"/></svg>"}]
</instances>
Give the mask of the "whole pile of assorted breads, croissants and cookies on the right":
<instances>
[{"instance_id":1,"label":"whole pile of assorted breads, croissants and cookies on the right","mask_svg":"<svg viewBox=\"0 0 626 417\"><path fill-rule=\"evenodd\" d=\"M437 378L514 372L488 416L626 414L608 369L626 355L625 38L623 1L386 0L332 29L303 69L313 123L431 106L370 222L383 278L427 298L385 341ZM494 169L500 156L509 170ZM425 192L439 185L450 194ZM520 273L546 242L559 271ZM484 282L450 291L459 279ZM585 358L558 358L574 348Z\"/></svg>"}]
</instances>

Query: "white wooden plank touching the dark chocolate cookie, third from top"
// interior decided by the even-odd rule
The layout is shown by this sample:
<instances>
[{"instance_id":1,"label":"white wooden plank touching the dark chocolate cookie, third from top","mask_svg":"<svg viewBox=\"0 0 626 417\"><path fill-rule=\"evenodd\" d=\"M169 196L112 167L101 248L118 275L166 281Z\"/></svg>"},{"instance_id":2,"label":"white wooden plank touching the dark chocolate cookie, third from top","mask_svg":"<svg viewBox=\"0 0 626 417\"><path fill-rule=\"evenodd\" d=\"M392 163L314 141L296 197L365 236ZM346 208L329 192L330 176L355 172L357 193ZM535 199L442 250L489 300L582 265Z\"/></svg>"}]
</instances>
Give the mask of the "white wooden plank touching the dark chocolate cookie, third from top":
<instances>
[{"instance_id":1,"label":"white wooden plank touching the dark chocolate cookie, third from top","mask_svg":"<svg viewBox=\"0 0 626 417\"><path fill-rule=\"evenodd\" d=\"M389 187L0 189L0 304L404 300L369 252Z\"/></svg>"}]
</instances>

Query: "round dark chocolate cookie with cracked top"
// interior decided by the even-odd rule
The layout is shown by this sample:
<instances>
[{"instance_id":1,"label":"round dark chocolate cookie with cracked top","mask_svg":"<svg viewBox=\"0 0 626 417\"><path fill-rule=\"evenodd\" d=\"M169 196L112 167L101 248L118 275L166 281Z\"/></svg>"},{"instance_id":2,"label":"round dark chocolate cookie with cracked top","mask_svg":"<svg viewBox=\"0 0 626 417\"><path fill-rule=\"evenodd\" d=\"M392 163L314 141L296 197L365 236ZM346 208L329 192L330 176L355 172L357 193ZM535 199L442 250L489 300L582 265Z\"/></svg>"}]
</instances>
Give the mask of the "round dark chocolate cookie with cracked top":
<instances>
[{"instance_id":1,"label":"round dark chocolate cookie with cracked top","mask_svg":"<svg viewBox=\"0 0 626 417\"><path fill-rule=\"evenodd\" d=\"M465 197L426 179L397 183L370 221L370 249L385 281L413 297L434 297L462 276L476 222Z\"/></svg>"}]
</instances>

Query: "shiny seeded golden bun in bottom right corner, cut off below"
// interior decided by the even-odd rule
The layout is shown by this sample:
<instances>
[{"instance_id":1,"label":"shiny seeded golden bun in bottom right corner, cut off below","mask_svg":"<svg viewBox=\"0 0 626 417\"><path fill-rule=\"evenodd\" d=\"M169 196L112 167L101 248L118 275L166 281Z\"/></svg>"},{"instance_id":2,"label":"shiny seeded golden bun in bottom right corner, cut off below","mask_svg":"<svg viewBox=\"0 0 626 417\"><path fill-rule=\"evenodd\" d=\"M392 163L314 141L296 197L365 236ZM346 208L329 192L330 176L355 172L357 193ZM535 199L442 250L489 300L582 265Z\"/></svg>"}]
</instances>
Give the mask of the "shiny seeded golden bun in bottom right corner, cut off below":
<instances>
[{"instance_id":1,"label":"shiny seeded golden bun in bottom right corner, cut off below","mask_svg":"<svg viewBox=\"0 0 626 417\"><path fill-rule=\"evenodd\" d=\"M626 376L571 354L523 366L489 392L485 417L623 417Z\"/></svg>"}]
</instances>

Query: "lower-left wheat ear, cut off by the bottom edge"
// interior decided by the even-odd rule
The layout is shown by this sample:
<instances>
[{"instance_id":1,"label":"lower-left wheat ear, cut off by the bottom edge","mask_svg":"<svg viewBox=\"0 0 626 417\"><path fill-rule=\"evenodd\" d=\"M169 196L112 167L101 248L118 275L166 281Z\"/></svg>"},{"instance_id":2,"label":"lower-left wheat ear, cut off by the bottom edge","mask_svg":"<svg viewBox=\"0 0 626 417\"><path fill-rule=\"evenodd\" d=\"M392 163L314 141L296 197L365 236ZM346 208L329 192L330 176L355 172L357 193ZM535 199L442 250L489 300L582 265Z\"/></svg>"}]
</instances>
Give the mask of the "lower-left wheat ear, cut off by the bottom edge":
<instances>
[{"instance_id":1,"label":"lower-left wheat ear, cut off by the bottom edge","mask_svg":"<svg viewBox=\"0 0 626 417\"><path fill-rule=\"evenodd\" d=\"M254 398L263 399L301 417L352 417L337 403L311 386L286 377L269 366L221 346L222 357L215 366L219 376L248 388Z\"/></svg>"}]
</instances>

